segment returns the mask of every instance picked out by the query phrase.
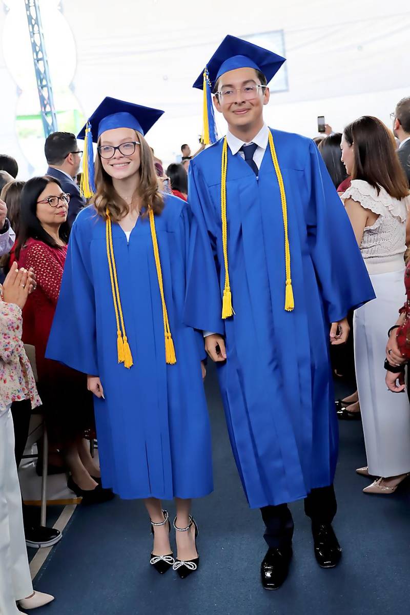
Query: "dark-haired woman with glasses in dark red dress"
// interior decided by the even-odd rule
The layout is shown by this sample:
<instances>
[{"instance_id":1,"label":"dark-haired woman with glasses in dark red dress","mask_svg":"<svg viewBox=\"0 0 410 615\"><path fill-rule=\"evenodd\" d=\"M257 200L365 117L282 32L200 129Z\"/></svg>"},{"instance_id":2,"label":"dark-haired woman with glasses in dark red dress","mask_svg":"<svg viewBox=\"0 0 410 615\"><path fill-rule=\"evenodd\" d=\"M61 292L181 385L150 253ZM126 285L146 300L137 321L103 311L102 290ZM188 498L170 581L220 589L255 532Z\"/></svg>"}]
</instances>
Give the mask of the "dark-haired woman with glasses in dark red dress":
<instances>
[{"instance_id":1,"label":"dark-haired woman with glasses in dark red dress","mask_svg":"<svg viewBox=\"0 0 410 615\"><path fill-rule=\"evenodd\" d=\"M85 440L93 431L92 399L84 375L45 359L68 241L69 196L50 176L26 182L21 195L18 266L33 268L37 288L23 311L23 342L36 349L38 387L44 404L50 448L61 450L71 472L68 486L84 502L111 499L100 485L100 468Z\"/></svg>"}]
</instances>

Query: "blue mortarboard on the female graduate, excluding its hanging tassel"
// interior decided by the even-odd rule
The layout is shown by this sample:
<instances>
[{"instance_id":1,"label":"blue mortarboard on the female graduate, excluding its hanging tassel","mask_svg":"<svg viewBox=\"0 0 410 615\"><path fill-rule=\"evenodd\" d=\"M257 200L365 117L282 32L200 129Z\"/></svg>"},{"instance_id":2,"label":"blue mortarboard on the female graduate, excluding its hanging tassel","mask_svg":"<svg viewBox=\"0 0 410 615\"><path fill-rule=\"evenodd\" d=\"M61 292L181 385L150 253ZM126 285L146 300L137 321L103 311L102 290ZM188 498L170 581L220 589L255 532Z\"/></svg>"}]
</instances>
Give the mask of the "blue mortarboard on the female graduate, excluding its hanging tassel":
<instances>
[{"instance_id":1,"label":"blue mortarboard on the female graduate, excluding its hanging tassel","mask_svg":"<svg viewBox=\"0 0 410 615\"><path fill-rule=\"evenodd\" d=\"M151 109L106 96L89 117L87 124L90 124L92 140L97 143L103 132L113 128L132 128L146 135L163 113L160 109ZM77 139L85 139L87 124L82 127Z\"/></svg>"}]
</instances>

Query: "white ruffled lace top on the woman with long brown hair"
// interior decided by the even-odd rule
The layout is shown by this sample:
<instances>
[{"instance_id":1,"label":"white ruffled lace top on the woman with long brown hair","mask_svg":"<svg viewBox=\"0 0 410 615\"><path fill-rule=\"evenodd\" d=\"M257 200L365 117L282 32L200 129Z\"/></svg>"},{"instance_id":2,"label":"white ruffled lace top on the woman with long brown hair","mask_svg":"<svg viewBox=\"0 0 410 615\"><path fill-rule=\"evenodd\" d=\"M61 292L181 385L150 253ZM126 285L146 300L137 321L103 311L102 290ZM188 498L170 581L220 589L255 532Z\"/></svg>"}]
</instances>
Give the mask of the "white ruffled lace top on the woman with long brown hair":
<instances>
[{"instance_id":1,"label":"white ruffled lace top on the woman with long brown hair","mask_svg":"<svg viewBox=\"0 0 410 615\"><path fill-rule=\"evenodd\" d=\"M372 226L366 226L360 244L361 254L369 272L381 273L404 268L409 197L393 199L384 188L380 187L377 194L376 188L367 181L352 180L341 198L343 201L353 199L360 203L361 207L379 215ZM374 266L377 266L377 270Z\"/></svg>"}]
</instances>

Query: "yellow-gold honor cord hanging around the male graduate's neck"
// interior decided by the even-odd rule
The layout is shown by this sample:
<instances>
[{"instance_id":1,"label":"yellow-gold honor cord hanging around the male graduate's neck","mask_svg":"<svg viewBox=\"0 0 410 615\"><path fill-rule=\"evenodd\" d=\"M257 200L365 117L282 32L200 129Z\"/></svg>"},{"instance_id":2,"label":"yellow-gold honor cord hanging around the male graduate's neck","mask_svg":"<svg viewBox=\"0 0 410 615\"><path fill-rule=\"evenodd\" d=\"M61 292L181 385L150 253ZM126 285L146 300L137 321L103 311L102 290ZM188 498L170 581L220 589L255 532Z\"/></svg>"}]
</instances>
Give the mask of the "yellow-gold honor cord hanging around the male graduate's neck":
<instances>
[{"instance_id":1,"label":"yellow-gold honor cord hanging around the male graduate's neck","mask_svg":"<svg viewBox=\"0 0 410 615\"><path fill-rule=\"evenodd\" d=\"M283 228L285 230L285 266L286 266L286 286L285 286L285 310L291 312L294 309L293 288L291 279L291 266L290 266L290 245L288 237L288 207L286 205L286 193L285 185L283 184L282 172L278 163L278 157L276 154L274 137L269 130L269 148L270 155L272 156L272 162L274 163L274 169L278 180L280 201L282 203L282 216L283 216ZM226 216L226 175L227 175L227 140L224 138L222 147L222 165L221 165L221 218L222 218L222 245L224 253L224 265L225 265L225 286L222 304L222 317L228 318L234 314L232 308L232 295L231 286L229 282L229 270L228 270L228 250L227 250L227 216Z\"/></svg>"}]
</instances>

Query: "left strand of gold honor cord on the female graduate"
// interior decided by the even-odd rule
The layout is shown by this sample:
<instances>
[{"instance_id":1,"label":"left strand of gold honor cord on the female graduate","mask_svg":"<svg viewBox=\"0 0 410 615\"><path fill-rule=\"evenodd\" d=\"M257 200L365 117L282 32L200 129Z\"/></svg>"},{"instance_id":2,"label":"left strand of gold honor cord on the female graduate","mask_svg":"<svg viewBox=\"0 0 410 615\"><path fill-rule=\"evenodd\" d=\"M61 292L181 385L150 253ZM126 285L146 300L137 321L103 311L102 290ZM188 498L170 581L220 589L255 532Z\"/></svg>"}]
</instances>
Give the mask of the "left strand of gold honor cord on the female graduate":
<instances>
[{"instance_id":1,"label":"left strand of gold honor cord on the female graduate","mask_svg":"<svg viewBox=\"0 0 410 615\"><path fill-rule=\"evenodd\" d=\"M129 369L133 366L130 344L128 344L127 335L125 334L124 316L122 314L122 306L120 300L120 291L118 287L117 268L114 258L114 246L112 245L112 225L109 217L109 210L106 210L106 244L109 277L111 280L112 301L114 301L114 310L116 312L117 322L117 355L118 362L124 363L124 367ZM121 328L120 328L121 325Z\"/></svg>"}]
</instances>

